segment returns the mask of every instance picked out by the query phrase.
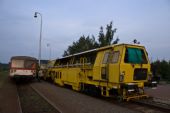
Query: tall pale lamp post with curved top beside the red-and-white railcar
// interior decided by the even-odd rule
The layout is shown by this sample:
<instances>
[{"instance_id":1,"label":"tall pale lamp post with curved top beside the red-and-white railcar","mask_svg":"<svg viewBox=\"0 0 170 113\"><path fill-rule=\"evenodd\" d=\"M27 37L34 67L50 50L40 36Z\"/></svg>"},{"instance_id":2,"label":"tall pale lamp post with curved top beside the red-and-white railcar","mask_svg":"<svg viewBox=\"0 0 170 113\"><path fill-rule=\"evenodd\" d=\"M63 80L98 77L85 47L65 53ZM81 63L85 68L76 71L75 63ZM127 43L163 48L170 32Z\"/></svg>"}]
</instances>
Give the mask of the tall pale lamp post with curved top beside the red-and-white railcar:
<instances>
[{"instance_id":1,"label":"tall pale lamp post with curved top beside the red-and-white railcar","mask_svg":"<svg viewBox=\"0 0 170 113\"><path fill-rule=\"evenodd\" d=\"M40 40L39 40L39 54L38 54L38 64L39 68L41 68L41 39L42 39L42 14L39 12L35 12L34 18L37 18L37 15L41 17L41 24L40 24Z\"/></svg>"}]
</instances>

